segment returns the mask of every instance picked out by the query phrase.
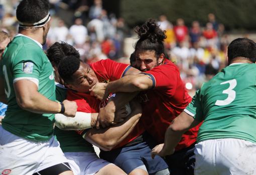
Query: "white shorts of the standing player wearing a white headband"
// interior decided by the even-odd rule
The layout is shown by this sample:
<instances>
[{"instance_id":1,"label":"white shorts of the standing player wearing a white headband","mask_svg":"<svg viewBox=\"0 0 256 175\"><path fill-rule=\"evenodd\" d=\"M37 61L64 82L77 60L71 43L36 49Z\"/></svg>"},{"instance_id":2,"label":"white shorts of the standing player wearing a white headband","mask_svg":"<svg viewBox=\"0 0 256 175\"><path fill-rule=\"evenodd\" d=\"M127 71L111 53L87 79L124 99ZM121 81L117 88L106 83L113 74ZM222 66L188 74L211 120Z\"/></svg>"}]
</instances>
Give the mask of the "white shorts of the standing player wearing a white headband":
<instances>
[{"instance_id":1,"label":"white shorts of the standing player wearing a white headband","mask_svg":"<svg viewBox=\"0 0 256 175\"><path fill-rule=\"evenodd\" d=\"M19 137L0 126L0 174L30 175L47 167L68 162L59 142L32 141ZM4 173L3 173L4 172Z\"/></svg>"}]
</instances>

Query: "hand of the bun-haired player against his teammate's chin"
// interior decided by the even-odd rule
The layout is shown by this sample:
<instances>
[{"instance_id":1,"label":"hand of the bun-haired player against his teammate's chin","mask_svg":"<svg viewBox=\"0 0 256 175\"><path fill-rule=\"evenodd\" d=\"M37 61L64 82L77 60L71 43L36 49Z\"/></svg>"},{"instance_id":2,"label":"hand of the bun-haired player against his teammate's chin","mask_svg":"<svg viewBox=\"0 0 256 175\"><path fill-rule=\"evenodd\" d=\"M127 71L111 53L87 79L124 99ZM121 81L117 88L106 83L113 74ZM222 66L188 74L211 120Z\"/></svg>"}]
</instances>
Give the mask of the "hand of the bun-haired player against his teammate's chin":
<instances>
[{"instance_id":1,"label":"hand of the bun-haired player against his teammate's chin","mask_svg":"<svg viewBox=\"0 0 256 175\"><path fill-rule=\"evenodd\" d=\"M106 85L106 83L97 82L89 89L90 95L95 96L99 100L106 99L108 97L108 93L106 92Z\"/></svg>"}]
</instances>

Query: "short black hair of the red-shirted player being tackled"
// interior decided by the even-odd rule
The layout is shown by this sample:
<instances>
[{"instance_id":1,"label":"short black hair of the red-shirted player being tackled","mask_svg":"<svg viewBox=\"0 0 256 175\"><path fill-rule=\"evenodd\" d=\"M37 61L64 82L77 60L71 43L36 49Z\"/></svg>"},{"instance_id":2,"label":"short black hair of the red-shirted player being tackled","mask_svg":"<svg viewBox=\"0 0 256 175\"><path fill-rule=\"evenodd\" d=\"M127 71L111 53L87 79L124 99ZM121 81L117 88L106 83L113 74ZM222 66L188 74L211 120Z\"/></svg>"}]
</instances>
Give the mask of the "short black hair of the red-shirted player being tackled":
<instances>
[{"instance_id":1,"label":"short black hair of the red-shirted player being tackled","mask_svg":"<svg viewBox=\"0 0 256 175\"><path fill-rule=\"evenodd\" d=\"M58 72L65 83L71 83L73 82L72 75L79 69L79 67L79 59L73 55L66 56L61 60L58 67Z\"/></svg>"}]
</instances>

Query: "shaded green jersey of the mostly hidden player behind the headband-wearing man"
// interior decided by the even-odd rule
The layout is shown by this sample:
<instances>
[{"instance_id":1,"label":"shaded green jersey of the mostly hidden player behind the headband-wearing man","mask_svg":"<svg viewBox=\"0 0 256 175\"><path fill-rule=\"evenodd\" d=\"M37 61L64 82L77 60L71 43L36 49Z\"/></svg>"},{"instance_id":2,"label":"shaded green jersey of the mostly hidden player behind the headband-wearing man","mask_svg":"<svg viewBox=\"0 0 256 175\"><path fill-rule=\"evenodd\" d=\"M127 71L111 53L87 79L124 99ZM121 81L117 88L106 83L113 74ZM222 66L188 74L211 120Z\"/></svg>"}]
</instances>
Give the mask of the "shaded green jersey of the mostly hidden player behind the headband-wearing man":
<instances>
[{"instance_id":1,"label":"shaded green jersey of the mostly hidden player behind the headband-wearing man","mask_svg":"<svg viewBox=\"0 0 256 175\"><path fill-rule=\"evenodd\" d=\"M62 102L66 99L66 93L67 89L56 83L56 99ZM63 152L94 152L92 144L76 131L64 131L55 126L54 135L59 141Z\"/></svg>"}]
</instances>

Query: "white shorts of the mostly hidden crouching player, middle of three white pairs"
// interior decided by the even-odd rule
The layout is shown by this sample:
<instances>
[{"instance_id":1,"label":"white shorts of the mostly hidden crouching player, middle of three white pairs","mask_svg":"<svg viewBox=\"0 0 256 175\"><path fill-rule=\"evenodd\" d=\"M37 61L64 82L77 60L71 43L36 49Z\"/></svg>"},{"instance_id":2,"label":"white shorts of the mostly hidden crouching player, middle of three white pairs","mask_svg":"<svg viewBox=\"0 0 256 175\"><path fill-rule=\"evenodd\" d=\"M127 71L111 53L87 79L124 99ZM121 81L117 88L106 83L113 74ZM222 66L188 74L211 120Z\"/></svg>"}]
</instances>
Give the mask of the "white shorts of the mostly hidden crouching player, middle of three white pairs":
<instances>
[{"instance_id":1,"label":"white shorts of the mostly hidden crouching player, middle of three white pairs","mask_svg":"<svg viewBox=\"0 0 256 175\"><path fill-rule=\"evenodd\" d=\"M93 175L108 161L99 158L95 152L64 152L74 175Z\"/></svg>"}]
</instances>

